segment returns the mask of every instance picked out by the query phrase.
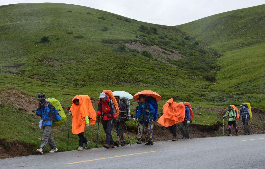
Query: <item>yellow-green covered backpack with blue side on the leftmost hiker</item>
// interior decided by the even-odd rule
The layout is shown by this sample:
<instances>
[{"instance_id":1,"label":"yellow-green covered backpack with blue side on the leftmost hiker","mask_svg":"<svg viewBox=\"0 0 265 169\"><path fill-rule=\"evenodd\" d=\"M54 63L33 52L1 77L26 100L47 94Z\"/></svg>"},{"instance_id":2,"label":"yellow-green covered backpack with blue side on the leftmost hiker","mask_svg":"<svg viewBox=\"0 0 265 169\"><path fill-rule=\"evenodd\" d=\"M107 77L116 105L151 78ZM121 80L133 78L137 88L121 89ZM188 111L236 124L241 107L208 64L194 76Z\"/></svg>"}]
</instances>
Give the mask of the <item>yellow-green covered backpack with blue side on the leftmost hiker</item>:
<instances>
[{"instance_id":1,"label":"yellow-green covered backpack with blue side on the leftmost hiker","mask_svg":"<svg viewBox=\"0 0 265 169\"><path fill-rule=\"evenodd\" d=\"M64 110L61 106L61 103L52 98L52 99L46 99L48 102L52 104L54 107L54 112L53 112L53 120L54 122L52 123L52 127L57 127L60 125L63 125L66 122L66 115L64 113Z\"/></svg>"}]
</instances>

